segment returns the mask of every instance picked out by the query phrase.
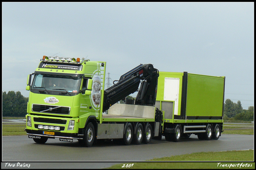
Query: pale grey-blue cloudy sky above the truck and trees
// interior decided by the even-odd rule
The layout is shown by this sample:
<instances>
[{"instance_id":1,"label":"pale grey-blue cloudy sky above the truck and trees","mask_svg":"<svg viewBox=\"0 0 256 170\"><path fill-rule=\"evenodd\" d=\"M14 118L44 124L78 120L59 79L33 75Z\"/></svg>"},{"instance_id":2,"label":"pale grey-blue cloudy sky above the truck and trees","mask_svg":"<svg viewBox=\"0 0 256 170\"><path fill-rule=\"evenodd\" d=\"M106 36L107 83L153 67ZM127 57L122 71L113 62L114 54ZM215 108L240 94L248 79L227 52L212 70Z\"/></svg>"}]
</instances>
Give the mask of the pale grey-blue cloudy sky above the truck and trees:
<instances>
[{"instance_id":1,"label":"pale grey-blue cloudy sky above the truck and trees","mask_svg":"<svg viewBox=\"0 0 256 170\"><path fill-rule=\"evenodd\" d=\"M110 83L147 63L225 76L224 100L254 106L254 2L2 2L2 92L28 97L55 54L106 61Z\"/></svg>"}]
</instances>

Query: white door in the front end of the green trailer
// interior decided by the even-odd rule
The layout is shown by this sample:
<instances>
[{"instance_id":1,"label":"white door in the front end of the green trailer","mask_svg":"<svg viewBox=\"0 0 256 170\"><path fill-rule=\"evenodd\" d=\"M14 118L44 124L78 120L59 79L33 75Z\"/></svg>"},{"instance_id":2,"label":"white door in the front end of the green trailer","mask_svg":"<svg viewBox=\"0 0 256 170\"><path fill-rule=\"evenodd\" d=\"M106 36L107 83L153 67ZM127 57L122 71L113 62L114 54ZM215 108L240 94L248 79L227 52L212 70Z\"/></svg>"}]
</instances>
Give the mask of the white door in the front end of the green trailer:
<instances>
[{"instance_id":1,"label":"white door in the front end of the green trailer","mask_svg":"<svg viewBox=\"0 0 256 170\"><path fill-rule=\"evenodd\" d=\"M174 115L178 115L180 78L165 77L164 100L174 101Z\"/></svg>"}]
</instances>

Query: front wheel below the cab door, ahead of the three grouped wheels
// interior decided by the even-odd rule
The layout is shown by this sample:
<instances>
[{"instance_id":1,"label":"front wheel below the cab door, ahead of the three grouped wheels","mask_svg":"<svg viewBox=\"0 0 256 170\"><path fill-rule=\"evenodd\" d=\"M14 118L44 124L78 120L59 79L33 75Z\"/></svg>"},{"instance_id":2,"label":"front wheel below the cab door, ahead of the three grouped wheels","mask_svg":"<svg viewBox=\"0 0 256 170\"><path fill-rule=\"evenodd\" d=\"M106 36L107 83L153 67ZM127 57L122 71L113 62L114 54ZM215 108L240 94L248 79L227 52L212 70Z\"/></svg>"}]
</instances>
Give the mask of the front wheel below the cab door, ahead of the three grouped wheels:
<instances>
[{"instance_id":1,"label":"front wheel below the cab door, ahead of the three grouped wheels","mask_svg":"<svg viewBox=\"0 0 256 170\"><path fill-rule=\"evenodd\" d=\"M89 123L85 128L83 140L78 140L79 144L81 146L91 147L95 138L94 132L95 130L93 124Z\"/></svg>"}]
</instances>

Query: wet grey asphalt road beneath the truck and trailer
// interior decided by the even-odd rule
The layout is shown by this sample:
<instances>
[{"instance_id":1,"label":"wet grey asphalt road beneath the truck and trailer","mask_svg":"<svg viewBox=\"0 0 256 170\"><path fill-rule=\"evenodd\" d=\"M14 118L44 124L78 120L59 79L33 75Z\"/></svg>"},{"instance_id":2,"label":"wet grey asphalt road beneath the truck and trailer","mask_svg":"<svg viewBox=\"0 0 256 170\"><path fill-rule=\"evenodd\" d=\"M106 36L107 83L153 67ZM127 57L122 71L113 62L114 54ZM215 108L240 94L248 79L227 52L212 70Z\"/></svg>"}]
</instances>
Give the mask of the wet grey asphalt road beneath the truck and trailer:
<instances>
[{"instance_id":1,"label":"wet grey asphalt road beneath the truck and trailer","mask_svg":"<svg viewBox=\"0 0 256 170\"><path fill-rule=\"evenodd\" d=\"M45 144L37 144L28 136L2 136L1 167L4 162L14 161L15 164L25 162L25 165L32 162L31 166L36 166L34 168L37 169L98 169L122 162L145 161L193 152L248 149L254 149L254 135L222 134L218 140L208 141L198 140L192 134L190 138L182 138L180 142L167 142L163 137L161 141L152 140L150 144L129 146L100 141L91 148L80 147L77 140L61 142L59 138L55 138L48 139Z\"/></svg>"}]
</instances>

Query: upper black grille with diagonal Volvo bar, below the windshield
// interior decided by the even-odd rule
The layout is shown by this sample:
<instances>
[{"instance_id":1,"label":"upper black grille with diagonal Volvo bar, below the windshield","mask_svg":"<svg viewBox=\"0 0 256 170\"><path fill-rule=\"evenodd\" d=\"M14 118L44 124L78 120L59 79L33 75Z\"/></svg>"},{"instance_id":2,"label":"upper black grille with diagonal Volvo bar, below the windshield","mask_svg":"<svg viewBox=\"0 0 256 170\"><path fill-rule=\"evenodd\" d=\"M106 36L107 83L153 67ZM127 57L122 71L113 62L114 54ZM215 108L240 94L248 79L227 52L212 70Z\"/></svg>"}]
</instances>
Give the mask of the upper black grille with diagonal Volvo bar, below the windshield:
<instances>
[{"instance_id":1,"label":"upper black grille with diagonal Volvo bar, below the windshield","mask_svg":"<svg viewBox=\"0 0 256 170\"><path fill-rule=\"evenodd\" d=\"M40 113L57 113L68 115L70 113L70 107L33 104L32 111Z\"/></svg>"}]
</instances>

